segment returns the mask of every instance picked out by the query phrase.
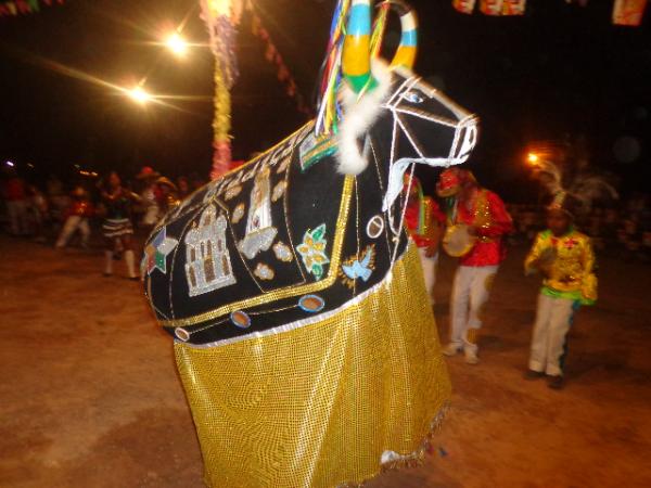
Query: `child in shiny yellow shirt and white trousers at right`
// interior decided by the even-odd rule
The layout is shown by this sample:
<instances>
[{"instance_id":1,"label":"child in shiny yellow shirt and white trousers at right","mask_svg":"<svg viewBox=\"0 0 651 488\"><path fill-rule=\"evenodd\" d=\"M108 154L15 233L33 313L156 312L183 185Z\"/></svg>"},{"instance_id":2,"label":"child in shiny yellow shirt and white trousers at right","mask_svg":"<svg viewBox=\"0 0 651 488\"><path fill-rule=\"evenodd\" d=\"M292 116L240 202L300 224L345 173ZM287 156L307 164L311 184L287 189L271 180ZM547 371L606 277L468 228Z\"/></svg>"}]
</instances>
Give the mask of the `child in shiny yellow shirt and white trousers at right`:
<instances>
[{"instance_id":1,"label":"child in shiny yellow shirt and white trousers at right","mask_svg":"<svg viewBox=\"0 0 651 488\"><path fill-rule=\"evenodd\" d=\"M582 305L597 299L595 254L590 239L573 227L577 202L561 193L547 209L547 229L536 236L524 261L525 274L542 275L526 377L548 376L563 387L567 332Z\"/></svg>"}]
</instances>

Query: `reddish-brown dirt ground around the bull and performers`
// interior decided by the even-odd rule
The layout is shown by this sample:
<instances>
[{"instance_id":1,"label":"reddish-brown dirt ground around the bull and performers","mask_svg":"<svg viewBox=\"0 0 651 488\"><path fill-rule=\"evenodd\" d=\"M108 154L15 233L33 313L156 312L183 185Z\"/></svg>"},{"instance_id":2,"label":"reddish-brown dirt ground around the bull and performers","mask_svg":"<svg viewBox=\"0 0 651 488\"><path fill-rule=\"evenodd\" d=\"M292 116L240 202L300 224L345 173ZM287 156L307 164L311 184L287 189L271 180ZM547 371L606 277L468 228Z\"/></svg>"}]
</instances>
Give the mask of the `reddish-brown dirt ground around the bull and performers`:
<instances>
[{"instance_id":1,"label":"reddish-brown dirt ground around the bull and performers","mask_svg":"<svg viewBox=\"0 0 651 488\"><path fill-rule=\"evenodd\" d=\"M448 360L455 394L422 466L373 488L651 486L651 267L603 259L580 310L563 390L523 380L537 280L511 249L478 365ZM201 487L173 363L139 283L102 256L0 236L0 487ZM435 308L447 336L454 261Z\"/></svg>"}]
</instances>

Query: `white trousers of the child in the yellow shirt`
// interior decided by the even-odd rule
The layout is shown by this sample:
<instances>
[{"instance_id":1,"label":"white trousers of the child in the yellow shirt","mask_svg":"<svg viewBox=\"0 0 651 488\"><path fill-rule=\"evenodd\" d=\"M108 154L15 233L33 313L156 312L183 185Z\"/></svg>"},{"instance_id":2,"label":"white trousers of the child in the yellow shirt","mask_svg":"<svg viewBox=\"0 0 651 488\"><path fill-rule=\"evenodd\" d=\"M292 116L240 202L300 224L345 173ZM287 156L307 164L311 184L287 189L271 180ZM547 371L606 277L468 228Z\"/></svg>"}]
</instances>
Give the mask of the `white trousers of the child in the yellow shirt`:
<instances>
[{"instance_id":1,"label":"white trousers of the child in the yellow shirt","mask_svg":"<svg viewBox=\"0 0 651 488\"><path fill-rule=\"evenodd\" d=\"M574 300L540 294L532 336L529 369L557 376L563 374L565 335L574 314Z\"/></svg>"}]
</instances>

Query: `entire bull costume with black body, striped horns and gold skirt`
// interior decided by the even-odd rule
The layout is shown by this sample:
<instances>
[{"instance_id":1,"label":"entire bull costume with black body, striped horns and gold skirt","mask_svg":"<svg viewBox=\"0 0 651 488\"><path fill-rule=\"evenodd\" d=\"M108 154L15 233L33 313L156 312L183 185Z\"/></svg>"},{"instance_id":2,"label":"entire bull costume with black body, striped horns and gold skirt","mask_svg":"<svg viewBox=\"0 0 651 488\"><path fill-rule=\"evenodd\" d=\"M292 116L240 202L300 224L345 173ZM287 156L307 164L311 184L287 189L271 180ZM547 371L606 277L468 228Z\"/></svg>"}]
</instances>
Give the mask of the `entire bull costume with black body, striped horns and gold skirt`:
<instances>
[{"instance_id":1,"label":"entire bull costume with black body, striped horns and gold skirt","mask_svg":"<svg viewBox=\"0 0 651 488\"><path fill-rule=\"evenodd\" d=\"M417 462L448 402L398 196L416 163L463 163L476 118L409 70L416 17L392 4L391 66L371 63L370 1L340 2L323 77L343 79L324 84L335 97L317 120L146 243L145 293L175 337L209 486L357 485Z\"/></svg>"}]
</instances>

